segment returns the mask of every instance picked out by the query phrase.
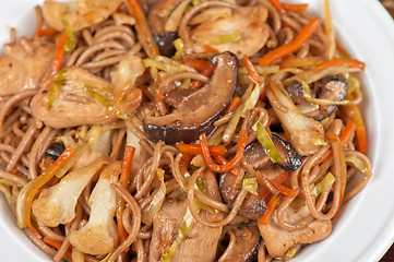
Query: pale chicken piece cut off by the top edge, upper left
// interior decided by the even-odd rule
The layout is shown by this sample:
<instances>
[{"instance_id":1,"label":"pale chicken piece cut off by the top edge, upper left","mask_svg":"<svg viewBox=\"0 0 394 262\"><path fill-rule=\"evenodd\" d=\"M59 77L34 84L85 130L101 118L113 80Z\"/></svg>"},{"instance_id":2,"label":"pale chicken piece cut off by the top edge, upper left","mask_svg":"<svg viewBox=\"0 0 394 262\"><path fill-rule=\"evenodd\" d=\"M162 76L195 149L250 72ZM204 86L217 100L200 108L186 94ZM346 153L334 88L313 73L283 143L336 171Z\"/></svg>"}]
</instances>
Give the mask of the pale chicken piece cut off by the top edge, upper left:
<instances>
[{"instance_id":1,"label":"pale chicken piece cut off by the top edge, upper left","mask_svg":"<svg viewBox=\"0 0 394 262\"><path fill-rule=\"evenodd\" d=\"M47 0L43 14L48 25L57 31L64 31L64 22L74 32L98 24L115 13L122 0L74 0L58 2Z\"/></svg>"}]
</instances>

